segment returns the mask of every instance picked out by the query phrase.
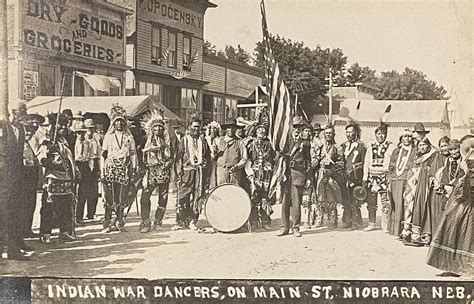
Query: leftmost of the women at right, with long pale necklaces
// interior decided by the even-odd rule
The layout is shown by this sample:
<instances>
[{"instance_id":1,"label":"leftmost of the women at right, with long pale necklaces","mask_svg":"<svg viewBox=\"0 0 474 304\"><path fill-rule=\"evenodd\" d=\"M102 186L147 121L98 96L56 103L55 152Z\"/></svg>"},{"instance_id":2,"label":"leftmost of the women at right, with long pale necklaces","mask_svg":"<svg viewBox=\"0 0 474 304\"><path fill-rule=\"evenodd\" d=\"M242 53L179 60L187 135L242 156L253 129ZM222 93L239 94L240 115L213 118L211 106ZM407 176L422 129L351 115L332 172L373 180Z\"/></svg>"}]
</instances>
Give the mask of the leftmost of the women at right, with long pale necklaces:
<instances>
[{"instance_id":1,"label":"leftmost of the women at right, with long pale necklaces","mask_svg":"<svg viewBox=\"0 0 474 304\"><path fill-rule=\"evenodd\" d=\"M388 166L389 198L392 208L389 214L388 233L400 236L404 217L403 191L407 184L408 171L412 167L416 149L413 147L413 137L410 130L400 135L400 143L393 151Z\"/></svg>"}]
</instances>

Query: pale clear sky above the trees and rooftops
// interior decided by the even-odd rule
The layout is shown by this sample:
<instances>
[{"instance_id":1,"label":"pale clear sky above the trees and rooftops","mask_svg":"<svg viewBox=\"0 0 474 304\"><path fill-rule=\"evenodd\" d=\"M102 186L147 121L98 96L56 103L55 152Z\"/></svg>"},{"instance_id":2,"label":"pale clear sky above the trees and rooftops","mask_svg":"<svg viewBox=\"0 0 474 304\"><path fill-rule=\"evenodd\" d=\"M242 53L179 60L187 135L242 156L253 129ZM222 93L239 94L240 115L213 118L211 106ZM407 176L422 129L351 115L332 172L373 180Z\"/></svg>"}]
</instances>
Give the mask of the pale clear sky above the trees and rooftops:
<instances>
[{"instance_id":1,"label":"pale clear sky above the trees and rooftops","mask_svg":"<svg viewBox=\"0 0 474 304\"><path fill-rule=\"evenodd\" d=\"M262 39L260 0L211 2L217 7L206 12L205 39L253 53ZM265 0L265 7L272 34L340 48L348 67L420 70L459 100L465 117L474 116L471 1Z\"/></svg>"}]
</instances>

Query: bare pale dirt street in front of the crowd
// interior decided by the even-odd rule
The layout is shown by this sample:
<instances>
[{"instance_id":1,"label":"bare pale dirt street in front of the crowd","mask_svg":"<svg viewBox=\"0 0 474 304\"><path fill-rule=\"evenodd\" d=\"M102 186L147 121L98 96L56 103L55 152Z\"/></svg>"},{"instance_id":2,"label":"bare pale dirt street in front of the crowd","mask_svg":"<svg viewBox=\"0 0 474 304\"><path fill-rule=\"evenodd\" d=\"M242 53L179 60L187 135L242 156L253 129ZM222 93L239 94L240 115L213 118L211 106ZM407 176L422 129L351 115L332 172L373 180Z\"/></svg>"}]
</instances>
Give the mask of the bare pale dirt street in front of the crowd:
<instances>
[{"instance_id":1,"label":"bare pale dirt street in front of the crowd","mask_svg":"<svg viewBox=\"0 0 474 304\"><path fill-rule=\"evenodd\" d=\"M153 207L156 197L152 198ZM3 276L99 278L237 278L237 279L375 279L438 280L439 270L426 265L428 248L407 247L381 230L303 231L301 238L277 237L281 205L275 205L272 230L252 233L171 231L174 197L170 195L164 229L138 232L135 205L127 218L128 232L104 234L95 221L77 228L70 243L50 245L27 240L36 248L31 261L1 259ZM39 205L39 204L38 204ZM153 208L152 208L153 209ZM366 216L365 207L363 216ZM99 209L99 214L102 209ZM35 225L38 224L39 206ZM153 213L152 213L153 214ZM341 213L340 213L341 214ZM36 230L37 231L37 230ZM464 278L461 278L461 280Z\"/></svg>"}]
</instances>

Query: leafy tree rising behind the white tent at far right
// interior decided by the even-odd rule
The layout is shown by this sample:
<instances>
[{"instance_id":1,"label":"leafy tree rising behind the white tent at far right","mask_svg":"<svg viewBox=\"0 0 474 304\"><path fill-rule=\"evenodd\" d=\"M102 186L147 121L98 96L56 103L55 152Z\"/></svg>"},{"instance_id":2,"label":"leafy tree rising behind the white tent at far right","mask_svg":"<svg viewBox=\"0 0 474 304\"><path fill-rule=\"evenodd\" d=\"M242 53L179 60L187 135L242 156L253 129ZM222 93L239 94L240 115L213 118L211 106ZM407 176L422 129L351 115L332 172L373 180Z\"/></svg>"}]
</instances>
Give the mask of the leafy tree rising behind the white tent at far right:
<instances>
[{"instance_id":1,"label":"leafy tree rising behind the white tent at far right","mask_svg":"<svg viewBox=\"0 0 474 304\"><path fill-rule=\"evenodd\" d=\"M438 86L422 72L410 68L405 68L401 74L397 71L382 72L376 85L381 89L377 99L443 99L446 95L443 86Z\"/></svg>"}]
</instances>

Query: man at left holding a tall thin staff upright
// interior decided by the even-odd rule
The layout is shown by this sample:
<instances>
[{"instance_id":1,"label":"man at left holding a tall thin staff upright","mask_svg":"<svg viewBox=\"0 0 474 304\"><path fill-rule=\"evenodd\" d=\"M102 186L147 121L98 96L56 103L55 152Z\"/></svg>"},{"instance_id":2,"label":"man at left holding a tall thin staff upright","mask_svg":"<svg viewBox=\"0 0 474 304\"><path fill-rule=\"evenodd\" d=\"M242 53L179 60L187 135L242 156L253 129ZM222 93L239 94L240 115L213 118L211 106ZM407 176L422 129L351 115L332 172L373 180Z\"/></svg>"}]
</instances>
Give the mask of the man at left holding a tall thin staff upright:
<instances>
[{"instance_id":1,"label":"man at left holding a tall thin staff upright","mask_svg":"<svg viewBox=\"0 0 474 304\"><path fill-rule=\"evenodd\" d=\"M57 215L60 239L75 240L74 231L74 200L75 182L80 173L75 165L72 151L64 138L67 132L67 117L62 114L50 114L52 124L50 140L42 143L39 155L41 165L46 169L45 186L41 204L40 241L51 242L51 230L55 227L53 213ZM56 121L58 126L56 129Z\"/></svg>"}]
</instances>

